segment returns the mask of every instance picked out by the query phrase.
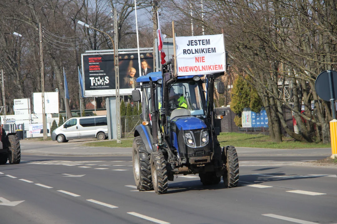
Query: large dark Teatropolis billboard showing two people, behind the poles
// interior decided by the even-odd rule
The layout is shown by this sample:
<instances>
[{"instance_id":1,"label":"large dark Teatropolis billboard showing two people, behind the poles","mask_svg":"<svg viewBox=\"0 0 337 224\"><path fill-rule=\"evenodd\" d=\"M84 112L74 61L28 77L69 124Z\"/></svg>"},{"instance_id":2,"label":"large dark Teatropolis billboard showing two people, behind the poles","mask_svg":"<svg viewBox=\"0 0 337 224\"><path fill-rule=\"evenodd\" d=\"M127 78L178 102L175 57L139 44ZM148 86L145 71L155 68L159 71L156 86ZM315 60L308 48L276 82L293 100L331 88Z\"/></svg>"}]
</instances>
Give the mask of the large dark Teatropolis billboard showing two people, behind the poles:
<instances>
[{"instance_id":1,"label":"large dark Teatropolis billboard showing two people, behind the poles","mask_svg":"<svg viewBox=\"0 0 337 224\"><path fill-rule=\"evenodd\" d=\"M121 52L119 59L120 95L131 95L136 78L153 72L153 53L142 52L141 71L139 71L137 51ZM116 91L115 65L113 52L82 54L82 76L84 96L113 96Z\"/></svg>"}]
</instances>

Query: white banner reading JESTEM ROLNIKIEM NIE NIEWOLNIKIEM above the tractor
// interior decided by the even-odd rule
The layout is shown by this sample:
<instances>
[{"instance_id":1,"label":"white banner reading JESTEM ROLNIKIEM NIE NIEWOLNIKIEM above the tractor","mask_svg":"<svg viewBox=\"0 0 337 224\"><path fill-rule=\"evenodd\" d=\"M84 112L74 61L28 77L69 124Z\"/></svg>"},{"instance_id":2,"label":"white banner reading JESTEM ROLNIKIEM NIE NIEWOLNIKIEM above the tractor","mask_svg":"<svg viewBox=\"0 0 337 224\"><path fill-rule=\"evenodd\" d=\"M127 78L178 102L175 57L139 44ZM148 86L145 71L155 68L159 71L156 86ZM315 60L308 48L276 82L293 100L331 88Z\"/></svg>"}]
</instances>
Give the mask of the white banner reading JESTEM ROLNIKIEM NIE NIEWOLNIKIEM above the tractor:
<instances>
[{"instance_id":1,"label":"white banner reading JESTEM ROLNIKIEM NIE NIEWOLNIKIEM above the tractor","mask_svg":"<svg viewBox=\"0 0 337 224\"><path fill-rule=\"evenodd\" d=\"M223 34L176 37L177 75L207 75L226 71Z\"/></svg>"}]
</instances>

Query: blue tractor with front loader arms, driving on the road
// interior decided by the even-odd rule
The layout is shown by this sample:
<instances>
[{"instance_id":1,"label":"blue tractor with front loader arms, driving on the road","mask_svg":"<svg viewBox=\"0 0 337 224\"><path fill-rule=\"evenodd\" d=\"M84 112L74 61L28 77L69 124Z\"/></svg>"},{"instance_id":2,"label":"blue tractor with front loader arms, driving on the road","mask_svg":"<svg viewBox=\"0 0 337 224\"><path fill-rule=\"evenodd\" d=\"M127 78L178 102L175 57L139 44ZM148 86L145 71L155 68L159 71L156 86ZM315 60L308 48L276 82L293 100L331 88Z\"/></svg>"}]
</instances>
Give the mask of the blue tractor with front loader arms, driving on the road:
<instances>
[{"instance_id":1,"label":"blue tractor with front loader arms, driving on the road","mask_svg":"<svg viewBox=\"0 0 337 224\"><path fill-rule=\"evenodd\" d=\"M142 124L135 128L132 145L137 189L166 193L168 181L177 174L198 174L204 185L218 184L222 177L225 187L237 186L236 149L221 147L217 140L224 114L215 112L214 83L223 73L175 76L172 68L169 60L163 73L137 78L141 85L132 91L134 101L142 98ZM217 83L219 94L224 88Z\"/></svg>"}]
</instances>

